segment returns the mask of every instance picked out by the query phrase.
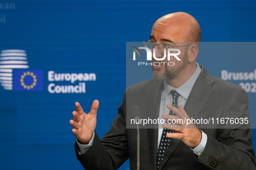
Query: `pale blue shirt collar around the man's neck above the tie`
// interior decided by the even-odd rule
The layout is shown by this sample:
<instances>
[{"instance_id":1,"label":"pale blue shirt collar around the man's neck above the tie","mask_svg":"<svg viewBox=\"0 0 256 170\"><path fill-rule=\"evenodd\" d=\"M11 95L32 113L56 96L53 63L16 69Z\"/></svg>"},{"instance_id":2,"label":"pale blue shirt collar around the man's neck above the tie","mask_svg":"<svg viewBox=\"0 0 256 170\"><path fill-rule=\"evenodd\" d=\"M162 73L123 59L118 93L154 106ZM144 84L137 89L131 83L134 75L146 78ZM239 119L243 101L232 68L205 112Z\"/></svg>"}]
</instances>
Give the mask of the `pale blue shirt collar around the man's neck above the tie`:
<instances>
[{"instance_id":1,"label":"pale blue shirt collar around the man's neck above the tie","mask_svg":"<svg viewBox=\"0 0 256 170\"><path fill-rule=\"evenodd\" d=\"M189 94L194 86L194 82L198 78L200 72L201 72L201 68L197 63L197 69L195 70L194 74L190 77L190 79L188 79L187 82L185 82L179 88L174 88L174 87L170 86L166 81L164 81L162 100L164 100L169 95L169 93L172 89L176 90L183 98L188 100L188 96L189 96Z\"/></svg>"}]
</instances>

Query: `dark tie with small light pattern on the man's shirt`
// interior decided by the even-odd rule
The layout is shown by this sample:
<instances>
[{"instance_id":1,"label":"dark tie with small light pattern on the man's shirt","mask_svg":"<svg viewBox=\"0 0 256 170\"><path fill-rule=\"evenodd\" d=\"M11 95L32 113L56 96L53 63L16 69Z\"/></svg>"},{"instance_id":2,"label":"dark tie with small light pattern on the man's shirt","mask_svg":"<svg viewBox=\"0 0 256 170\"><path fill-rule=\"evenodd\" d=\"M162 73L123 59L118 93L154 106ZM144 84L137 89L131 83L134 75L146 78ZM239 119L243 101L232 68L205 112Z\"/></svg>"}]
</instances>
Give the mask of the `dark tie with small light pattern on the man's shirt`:
<instances>
[{"instance_id":1,"label":"dark tie with small light pattern on the man's shirt","mask_svg":"<svg viewBox=\"0 0 256 170\"><path fill-rule=\"evenodd\" d=\"M172 94L172 106L177 107L178 108L178 97L180 94L178 94L178 92L176 90L172 90L170 91L170 94ZM170 110L169 115L174 115L176 116L175 113L172 112L172 110ZM167 123L167 120L166 120ZM162 163L163 157L165 155L165 152L167 151L167 148L170 144L170 138L168 138L166 136L166 133L175 133L174 130L169 130L169 129L163 129L162 132L162 137L158 146L158 150L157 150L157 168L159 168L160 164Z\"/></svg>"}]
</instances>

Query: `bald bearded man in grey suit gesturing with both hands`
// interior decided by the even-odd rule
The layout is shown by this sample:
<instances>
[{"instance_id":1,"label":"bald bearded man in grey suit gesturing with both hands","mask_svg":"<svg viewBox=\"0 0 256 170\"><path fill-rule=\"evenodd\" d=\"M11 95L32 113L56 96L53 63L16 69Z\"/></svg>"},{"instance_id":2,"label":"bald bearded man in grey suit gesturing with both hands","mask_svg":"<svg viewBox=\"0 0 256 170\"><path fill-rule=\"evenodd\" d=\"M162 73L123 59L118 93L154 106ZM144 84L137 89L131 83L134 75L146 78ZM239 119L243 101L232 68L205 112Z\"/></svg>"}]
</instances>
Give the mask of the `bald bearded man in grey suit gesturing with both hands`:
<instances>
[{"instance_id":1,"label":"bald bearded man in grey suit gesturing with both hands","mask_svg":"<svg viewBox=\"0 0 256 170\"><path fill-rule=\"evenodd\" d=\"M166 120L189 119L187 113L193 117L249 114L245 91L211 76L196 63L201 31L191 15L178 12L161 17L153 25L150 38L156 57L162 56L159 42L195 43L178 47L180 62L174 66L152 66L154 79L126 89L117 118L101 140L94 131L99 102L93 102L88 114L76 102L74 120L70 123L77 138L75 153L85 169L117 169L128 157L130 168L136 169L137 131L126 129L129 109L126 102ZM251 129L199 130L194 124L162 124L162 127L164 129L140 129L140 169L256 169Z\"/></svg>"}]
</instances>

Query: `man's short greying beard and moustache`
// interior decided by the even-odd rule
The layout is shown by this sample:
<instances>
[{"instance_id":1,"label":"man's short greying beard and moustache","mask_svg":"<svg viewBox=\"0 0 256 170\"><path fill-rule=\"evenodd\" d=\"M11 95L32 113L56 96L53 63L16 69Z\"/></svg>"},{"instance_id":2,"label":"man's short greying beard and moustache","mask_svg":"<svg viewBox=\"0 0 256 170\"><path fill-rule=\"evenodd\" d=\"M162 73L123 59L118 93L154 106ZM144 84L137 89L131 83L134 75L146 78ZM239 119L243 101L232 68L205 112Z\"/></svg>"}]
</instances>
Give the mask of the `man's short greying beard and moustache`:
<instances>
[{"instance_id":1,"label":"man's short greying beard and moustache","mask_svg":"<svg viewBox=\"0 0 256 170\"><path fill-rule=\"evenodd\" d=\"M172 79L175 79L178 74L181 72L182 69L184 69L184 67L186 66L186 63L188 61L188 55L187 55L187 51L184 54L184 59L183 59L183 63L178 66L176 69L171 69L170 67L172 66L168 66L168 64L164 65L164 72L160 72L160 69L155 69L153 66L151 66L152 72L153 72L153 76L158 79L158 80L164 80L164 81L169 81ZM152 60L152 63L157 62L156 60Z\"/></svg>"}]
</instances>

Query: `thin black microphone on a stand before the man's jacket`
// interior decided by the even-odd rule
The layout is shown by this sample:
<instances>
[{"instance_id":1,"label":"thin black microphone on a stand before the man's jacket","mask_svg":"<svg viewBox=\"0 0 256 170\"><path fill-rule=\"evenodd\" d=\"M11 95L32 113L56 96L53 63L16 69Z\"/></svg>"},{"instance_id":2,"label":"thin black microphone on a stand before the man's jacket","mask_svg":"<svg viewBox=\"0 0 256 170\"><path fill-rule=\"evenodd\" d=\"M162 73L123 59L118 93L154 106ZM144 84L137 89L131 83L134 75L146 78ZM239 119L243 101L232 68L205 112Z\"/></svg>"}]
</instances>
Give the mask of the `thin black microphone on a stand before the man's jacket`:
<instances>
[{"instance_id":1,"label":"thin black microphone on a stand before the man's jacket","mask_svg":"<svg viewBox=\"0 0 256 170\"><path fill-rule=\"evenodd\" d=\"M132 107L132 113L134 119L139 119L141 116L139 106L134 105ZM137 124L137 170L139 170L139 123Z\"/></svg>"}]
</instances>

